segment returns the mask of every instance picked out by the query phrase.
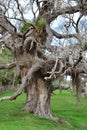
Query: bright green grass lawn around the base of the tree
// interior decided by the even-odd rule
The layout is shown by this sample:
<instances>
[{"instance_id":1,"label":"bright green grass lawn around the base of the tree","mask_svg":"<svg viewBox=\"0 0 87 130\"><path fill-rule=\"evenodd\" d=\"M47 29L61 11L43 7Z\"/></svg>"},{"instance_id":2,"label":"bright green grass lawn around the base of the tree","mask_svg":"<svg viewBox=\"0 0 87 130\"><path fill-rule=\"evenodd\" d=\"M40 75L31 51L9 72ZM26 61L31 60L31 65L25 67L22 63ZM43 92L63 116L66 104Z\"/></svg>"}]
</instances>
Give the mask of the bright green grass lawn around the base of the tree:
<instances>
[{"instance_id":1,"label":"bright green grass lawn around the base of the tree","mask_svg":"<svg viewBox=\"0 0 87 130\"><path fill-rule=\"evenodd\" d=\"M12 92L0 97L12 95ZM52 113L59 116L64 123L39 118L22 111L25 95L16 101L0 103L0 130L87 130L87 98L82 98L76 105L75 94L56 91L52 96Z\"/></svg>"}]
</instances>

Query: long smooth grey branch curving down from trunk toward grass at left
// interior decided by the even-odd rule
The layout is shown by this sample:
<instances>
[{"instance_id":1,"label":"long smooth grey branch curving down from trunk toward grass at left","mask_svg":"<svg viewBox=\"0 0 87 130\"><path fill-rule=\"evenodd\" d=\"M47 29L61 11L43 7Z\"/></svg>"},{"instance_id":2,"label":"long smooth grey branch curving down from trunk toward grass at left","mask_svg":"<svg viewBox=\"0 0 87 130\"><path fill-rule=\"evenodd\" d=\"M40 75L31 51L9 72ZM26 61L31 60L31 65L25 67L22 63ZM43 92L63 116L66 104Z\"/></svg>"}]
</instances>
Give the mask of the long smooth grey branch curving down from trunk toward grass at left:
<instances>
[{"instance_id":1,"label":"long smooth grey branch curving down from trunk toward grass at left","mask_svg":"<svg viewBox=\"0 0 87 130\"><path fill-rule=\"evenodd\" d=\"M43 68L44 64L45 64L45 62L43 60L39 60L37 63L32 65L32 67L29 69L27 75L23 77L22 84L20 85L18 90L14 93L14 95L0 98L0 101L15 100L22 93L24 88L26 87L27 80L29 81L35 72L37 72L40 68Z\"/></svg>"}]
</instances>

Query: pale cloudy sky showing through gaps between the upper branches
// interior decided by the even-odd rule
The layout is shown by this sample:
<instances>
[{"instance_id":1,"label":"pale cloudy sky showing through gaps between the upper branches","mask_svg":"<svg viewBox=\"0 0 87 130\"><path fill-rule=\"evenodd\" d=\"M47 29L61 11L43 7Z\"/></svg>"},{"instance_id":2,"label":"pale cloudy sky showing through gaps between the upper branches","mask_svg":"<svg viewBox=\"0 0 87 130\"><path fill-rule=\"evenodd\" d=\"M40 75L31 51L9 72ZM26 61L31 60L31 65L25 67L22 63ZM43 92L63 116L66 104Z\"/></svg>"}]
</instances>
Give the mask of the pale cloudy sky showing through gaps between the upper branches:
<instances>
[{"instance_id":1,"label":"pale cloudy sky showing through gaps between the upper branches","mask_svg":"<svg viewBox=\"0 0 87 130\"><path fill-rule=\"evenodd\" d=\"M67 0L65 0L65 1L67 1ZM24 10L24 17L26 18L26 19L28 19L29 21L32 21L32 19L33 19L33 13L32 13L32 11L31 11L31 7L32 7L32 4L28 4L27 5L27 3L29 3L29 1L28 0L19 0L19 2L20 2L20 5L21 5L21 8L22 8L22 10ZM75 2L73 2L72 3L73 5L75 5ZM12 4L11 5L12 7L14 7L14 4ZM26 8L24 8L26 6ZM15 6L16 7L16 6ZM27 9L27 7L28 7L28 9ZM17 14L17 17L18 18L20 18L20 15L17 13L17 11L16 11L16 8L14 9L15 10L15 12L16 12L16 14ZM36 7L36 4L34 4L34 11L36 11L37 10L37 7ZM38 14L38 12L37 12L37 14ZM9 15L10 16L13 16L13 11L11 10L11 9L9 9ZM74 15L73 15L73 18L74 18L74 21L76 22L77 20L78 20L78 17L79 17L79 13L75 13ZM64 27L64 25L67 23L67 21L68 21L68 19L67 18L65 18L65 17L62 17L62 16L58 16L58 18L56 18L52 23L51 23L51 28L52 29L54 29L56 32L58 32L58 33L63 33L63 34L65 34L66 33L66 28ZM20 22L18 22L18 21L16 21L16 20L11 20L11 22L14 24L14 25L16 25L16 26L18 26L19 25L19 23ZM72 26L70 26L70 28L69 28L69 33L75 33L75 29L72 27ZM54 44L56 44L56 43L58 43L58 42L60 42L60 40L57 40L57 39L53 39L53 43ZM61 40L61 42L63 43L66 43L67 41L65 40Z\"/></svg>"}]
</instances>

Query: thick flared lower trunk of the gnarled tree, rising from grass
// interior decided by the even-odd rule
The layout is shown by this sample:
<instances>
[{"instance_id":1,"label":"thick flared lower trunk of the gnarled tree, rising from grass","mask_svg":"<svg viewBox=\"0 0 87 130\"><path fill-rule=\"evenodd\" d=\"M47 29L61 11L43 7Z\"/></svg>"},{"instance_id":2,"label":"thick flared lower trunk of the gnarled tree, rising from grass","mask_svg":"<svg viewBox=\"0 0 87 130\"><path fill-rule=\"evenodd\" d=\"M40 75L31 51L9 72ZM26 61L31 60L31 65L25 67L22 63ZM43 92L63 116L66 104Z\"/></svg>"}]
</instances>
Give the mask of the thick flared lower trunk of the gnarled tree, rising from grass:
<instances>
[{"instance_id":1,"label":"thick flared lower trunk of the gnarled tree, rising from grass","mask_svg":"<svg viewBox=\"0 0 87 130\"><path fill-rule=\"evenodd\" d=\"M27 101L24 110L40 117L53 119L50 110L50 91L42 78L33 78L26 87Z\"/></svg>"}]
</instances>

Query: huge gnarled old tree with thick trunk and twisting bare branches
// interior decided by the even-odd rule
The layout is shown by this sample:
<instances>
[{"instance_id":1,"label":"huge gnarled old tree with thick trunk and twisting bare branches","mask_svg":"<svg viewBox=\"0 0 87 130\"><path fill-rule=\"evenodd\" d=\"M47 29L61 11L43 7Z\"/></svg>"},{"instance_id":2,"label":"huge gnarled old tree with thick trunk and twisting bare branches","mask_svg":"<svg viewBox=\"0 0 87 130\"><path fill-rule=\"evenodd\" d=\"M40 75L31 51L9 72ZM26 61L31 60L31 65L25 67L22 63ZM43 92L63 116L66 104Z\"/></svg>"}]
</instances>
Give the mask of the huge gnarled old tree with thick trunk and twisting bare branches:
<instances>
[{"instance_id":1,"label":"huge gnarled old tree with thick trunk and twisting bare branches","mask_svg":"<svg viewBox=\"0 0 87 130\"><path fill-rule=\"evenodd\" d=\"M87 50L86 31L79 29L81 19L86 17L87 2L84 0L27 0L24 5L22 2L19 0L6 2L1 0L0 2L0 45L4 44L9 48L16 59L15 63L0 65L0 69L16 66L21 76L21 85L14 95L3 97L0 101L14 100L25 90L24 110L56 120L50 110L50 98L54 90L51 81L54 78L70 75L73 84L76 85L79 100L82 77L87 73L86 60L83 56ZM33 14L32 22L24 16L26 12L31 15L30 10ZM74 20L76 13L78 13L77 21ZM50 26L59 16L65 19L64 33L63 30L58 33ZM22 29L20 31L19 23L26 24L25 27L28 24L29 26L28 28L20 26L20 30ZM71 26L72 32L70 32ZM68 39L67 42L65 41L66 46L52 45L54 37ZM73 39L74 44L70 44L69 39Z\"/></svg>"}]
</instances>

